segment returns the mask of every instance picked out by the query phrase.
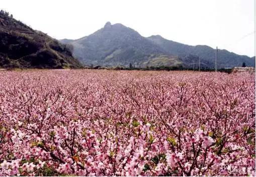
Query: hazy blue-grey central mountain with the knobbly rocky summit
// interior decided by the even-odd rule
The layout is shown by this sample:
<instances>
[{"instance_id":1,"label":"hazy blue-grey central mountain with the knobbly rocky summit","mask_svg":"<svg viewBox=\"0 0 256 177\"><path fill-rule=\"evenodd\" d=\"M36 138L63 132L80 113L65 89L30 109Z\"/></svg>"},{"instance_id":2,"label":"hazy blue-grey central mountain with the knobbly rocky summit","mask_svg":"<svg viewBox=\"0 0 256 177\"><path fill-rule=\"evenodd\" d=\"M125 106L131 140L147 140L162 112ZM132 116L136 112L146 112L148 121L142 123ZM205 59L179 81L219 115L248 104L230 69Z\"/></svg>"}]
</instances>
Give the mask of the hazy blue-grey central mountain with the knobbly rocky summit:
<instances>
[{"instance_id":1,"label":"hazy blue-grey central mountain with the knobbly rocky summit","mask_svg":"<svg viewBox=\"0 0 256 177\"><path fill-rule=\"evenodd\" d=\"M178 57L166 52L138 32L122 24L106 23L104 28L77 40L61 40L74 47L73 55L86 65L177 66Z\"/></svg>"}]
</instances>

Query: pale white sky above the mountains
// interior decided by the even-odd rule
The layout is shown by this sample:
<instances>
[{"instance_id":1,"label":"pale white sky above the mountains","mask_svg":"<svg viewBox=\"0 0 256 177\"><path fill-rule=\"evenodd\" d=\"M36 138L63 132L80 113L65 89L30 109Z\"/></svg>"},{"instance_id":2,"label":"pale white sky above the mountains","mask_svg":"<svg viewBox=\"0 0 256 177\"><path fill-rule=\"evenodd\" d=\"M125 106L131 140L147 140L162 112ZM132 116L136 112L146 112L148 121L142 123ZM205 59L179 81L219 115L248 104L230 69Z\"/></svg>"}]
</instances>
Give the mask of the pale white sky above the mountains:
<instances>
[{"instance_id":1,"label":"pale white sky above the mountains","mask_svg":"<svg viewBox=\"0 0 256 177\"><path fill-rule=\"evenodd\" d=\"M1 0L0 9L56 39L121 23L149 37L255 56L255 0Z\"/></svg>"}]
</instances>

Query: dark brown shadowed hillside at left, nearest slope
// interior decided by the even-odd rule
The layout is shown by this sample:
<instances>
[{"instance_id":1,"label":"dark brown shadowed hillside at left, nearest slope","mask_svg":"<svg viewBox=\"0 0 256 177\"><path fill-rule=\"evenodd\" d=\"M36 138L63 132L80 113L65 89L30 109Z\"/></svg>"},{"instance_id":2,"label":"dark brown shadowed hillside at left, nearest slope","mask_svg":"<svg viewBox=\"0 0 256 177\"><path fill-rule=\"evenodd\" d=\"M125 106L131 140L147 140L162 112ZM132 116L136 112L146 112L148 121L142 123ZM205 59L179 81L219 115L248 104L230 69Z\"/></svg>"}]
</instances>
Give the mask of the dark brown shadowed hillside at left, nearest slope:
<instances>
[{"instance_id":1,"label":"dark brown shadowed hillside at left, nearest slope","mask_svg":"<svg viewBox=\"0 0 256 177\"><path fill-rule=\"evenodd\" d=\"M80 68L72 46L33 30L0 11L0 68Z\"/></svg>"}]
</instances>

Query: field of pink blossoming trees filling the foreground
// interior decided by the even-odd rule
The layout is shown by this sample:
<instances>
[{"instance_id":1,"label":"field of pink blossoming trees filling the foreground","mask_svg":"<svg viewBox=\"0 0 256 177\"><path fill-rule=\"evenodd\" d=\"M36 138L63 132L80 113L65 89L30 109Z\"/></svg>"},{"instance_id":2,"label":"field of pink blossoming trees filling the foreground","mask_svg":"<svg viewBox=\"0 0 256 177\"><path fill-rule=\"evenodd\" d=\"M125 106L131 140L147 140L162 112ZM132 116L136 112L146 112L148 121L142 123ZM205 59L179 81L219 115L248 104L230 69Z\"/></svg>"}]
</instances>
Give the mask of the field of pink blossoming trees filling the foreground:
<instances>
[{"instance_id":1,"label":"field of pink blossoming trees filling the foreground","mask_svg":"<svg viewBox=\"0 0 256 177\"><path fill-rule=\"evenodd\" d=\"M255 175L254 74L0 72L0 175L232 175L239 165L235 175Z\"/></svg>"}]
</instances>

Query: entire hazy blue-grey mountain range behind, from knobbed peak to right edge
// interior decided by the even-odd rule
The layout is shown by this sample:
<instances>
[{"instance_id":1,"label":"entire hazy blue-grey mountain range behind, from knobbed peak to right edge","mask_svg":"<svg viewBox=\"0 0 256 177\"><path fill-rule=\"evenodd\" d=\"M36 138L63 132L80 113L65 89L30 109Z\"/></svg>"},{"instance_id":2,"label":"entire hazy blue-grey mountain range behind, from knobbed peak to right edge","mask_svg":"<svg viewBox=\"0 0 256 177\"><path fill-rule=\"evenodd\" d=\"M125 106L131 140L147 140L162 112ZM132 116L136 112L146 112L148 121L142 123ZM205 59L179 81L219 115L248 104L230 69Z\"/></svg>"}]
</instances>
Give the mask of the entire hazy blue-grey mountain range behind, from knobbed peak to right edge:
<instances>
[{"instance_id":1,"label":"entire hazy blue-grey mountain range behind, from knobbed peak to right edge","mask_svg":"<svg viewBox=\"0 0 256 177\"><path fill-rule=\"evenodd\" d=\"M122 24L106 23L104 28L77 40L60 40L74 47L73 55L85 65L100 66L183 66L213 68L215 49L169 41L159 35L148 38ZM255 66L255 59L218 50L218 68Z\"/></svg>"}]
</instances>

